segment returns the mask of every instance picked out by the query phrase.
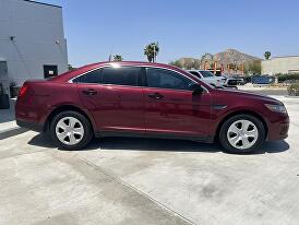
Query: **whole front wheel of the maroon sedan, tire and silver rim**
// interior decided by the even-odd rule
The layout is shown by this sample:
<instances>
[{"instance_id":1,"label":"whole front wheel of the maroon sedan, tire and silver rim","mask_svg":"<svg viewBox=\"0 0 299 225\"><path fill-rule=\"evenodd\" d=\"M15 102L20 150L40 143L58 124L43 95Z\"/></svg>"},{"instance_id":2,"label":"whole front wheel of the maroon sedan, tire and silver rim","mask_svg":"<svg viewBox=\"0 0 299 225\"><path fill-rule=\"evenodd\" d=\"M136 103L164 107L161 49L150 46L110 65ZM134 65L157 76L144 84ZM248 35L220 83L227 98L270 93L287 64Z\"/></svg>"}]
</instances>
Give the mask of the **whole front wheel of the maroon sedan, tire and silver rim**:
<instances>
[{"instance_id":1,"label":"whole front wheel of the maroon sedan, tire and silver rim","mask_svg":"<svg viewBox=\"0 0 299 225\"><path fill-rule=\"evenodd\" d=\"M237 115L227 119L219 132L219 141L227 152L249 153L265 140L263 122L251 115Z\"/></svg>"}]
</instances>

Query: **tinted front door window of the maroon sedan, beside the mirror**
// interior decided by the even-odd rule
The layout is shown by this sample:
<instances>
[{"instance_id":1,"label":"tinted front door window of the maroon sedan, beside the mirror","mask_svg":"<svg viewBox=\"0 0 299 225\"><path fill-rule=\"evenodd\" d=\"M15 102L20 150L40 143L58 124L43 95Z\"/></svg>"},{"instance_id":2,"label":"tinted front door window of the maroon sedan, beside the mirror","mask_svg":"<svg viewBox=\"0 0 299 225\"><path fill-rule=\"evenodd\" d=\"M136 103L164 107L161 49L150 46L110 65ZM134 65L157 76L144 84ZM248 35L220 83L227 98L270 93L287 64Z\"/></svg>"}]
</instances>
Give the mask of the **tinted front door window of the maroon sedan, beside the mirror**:
<instances>
[{"instance_id":1,"label":"tinted front door window of the maroon sedan, beside the mirror","mask_svg":"<svg viewBox=\"0 0 299 225\"><path fill-rule=\"evenodd\" d=\"M179 73L156 68L148 68L146 78L150 87L188 90L189 85L194 83Z\"/></svg>"}]
</instances>

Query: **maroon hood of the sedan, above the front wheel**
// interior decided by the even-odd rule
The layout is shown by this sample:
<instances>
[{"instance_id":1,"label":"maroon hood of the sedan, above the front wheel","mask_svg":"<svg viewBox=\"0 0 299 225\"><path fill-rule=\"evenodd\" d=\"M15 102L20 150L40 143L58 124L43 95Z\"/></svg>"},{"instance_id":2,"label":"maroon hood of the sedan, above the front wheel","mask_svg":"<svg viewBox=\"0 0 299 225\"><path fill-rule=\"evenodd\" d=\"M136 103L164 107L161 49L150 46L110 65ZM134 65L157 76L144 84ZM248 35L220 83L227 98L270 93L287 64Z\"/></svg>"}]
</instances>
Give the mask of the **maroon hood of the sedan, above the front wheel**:
<instances>
[{"instance_id":1,"label":"maroon hood of the sedan, above the front wheel","mask_svg":"<svg viewBox=\"0 0 299 225\"><path fill-rule=\"evenodd\" d=\"M272 104L278 104L278 105L284 105L282 102L270 97L264 94L258 94L254 92L249 92L249 91L240 91L240 90L230 90L230 88L223 88L223 90L217 90L217 92L225 92L227 95L231 95L231 97L244 97L244 98L253 98L256 100L263 100Z\"/></svg>"}]
</instances>

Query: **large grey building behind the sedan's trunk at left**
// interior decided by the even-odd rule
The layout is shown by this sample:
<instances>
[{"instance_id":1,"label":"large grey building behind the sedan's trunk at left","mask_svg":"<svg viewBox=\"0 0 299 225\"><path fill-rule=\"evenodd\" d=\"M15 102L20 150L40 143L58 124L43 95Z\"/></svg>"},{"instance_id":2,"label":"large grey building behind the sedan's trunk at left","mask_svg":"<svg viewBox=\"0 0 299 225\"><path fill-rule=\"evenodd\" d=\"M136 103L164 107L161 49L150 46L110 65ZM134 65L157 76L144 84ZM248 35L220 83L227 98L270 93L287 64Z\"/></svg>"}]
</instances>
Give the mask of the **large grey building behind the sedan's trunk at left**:
<instances>
[{"instance_id":1,"label":"large grey building behind the sedan's trunk at left","mask_svg":"<svg viewBox=\"0 0 299 225\"><path fill-rule=\"evenodd\" d=\"M0 83L21 86L68 70L62 8L29 0L0 0Z\"/></svg>"}]
</instances>

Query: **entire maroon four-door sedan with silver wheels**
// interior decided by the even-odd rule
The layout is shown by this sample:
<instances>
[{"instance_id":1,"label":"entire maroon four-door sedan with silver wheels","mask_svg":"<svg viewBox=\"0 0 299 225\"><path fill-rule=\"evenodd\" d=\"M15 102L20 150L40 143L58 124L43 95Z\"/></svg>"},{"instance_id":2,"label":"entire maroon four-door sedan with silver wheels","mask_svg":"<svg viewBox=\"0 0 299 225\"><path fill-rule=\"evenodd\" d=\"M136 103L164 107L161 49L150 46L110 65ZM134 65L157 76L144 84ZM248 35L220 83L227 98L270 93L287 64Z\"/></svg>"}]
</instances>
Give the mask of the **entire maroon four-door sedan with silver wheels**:
<instances>
[{"instance_id":1,"label":"entire maroon four-door sedan with silver wheels","mask_svg":"<svg viewBox=\"0 0 299 225\"><path fill-rule=\"evenodd\" d=\"M218 140L252 152L288 135L285 106L271 97L211 86L179 68L99 62L51 80L27 81L15 108L20 127L48 132L68 150L93 137Z\"/></svg>"}]
</instances>

